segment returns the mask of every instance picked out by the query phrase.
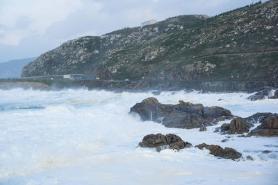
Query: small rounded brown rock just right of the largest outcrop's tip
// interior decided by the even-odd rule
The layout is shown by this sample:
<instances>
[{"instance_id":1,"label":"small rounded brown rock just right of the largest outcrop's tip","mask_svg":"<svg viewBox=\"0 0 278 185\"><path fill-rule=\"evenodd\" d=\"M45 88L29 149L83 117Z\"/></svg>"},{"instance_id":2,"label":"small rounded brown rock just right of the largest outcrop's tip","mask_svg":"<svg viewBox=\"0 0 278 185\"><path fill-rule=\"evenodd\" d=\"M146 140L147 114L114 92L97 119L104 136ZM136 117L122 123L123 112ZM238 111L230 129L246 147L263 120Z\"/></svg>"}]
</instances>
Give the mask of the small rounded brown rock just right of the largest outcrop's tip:
<instances>
[{"instance_id":1,"label":"small rounded brown rock just right of the largest outcrop's tip","mask_svg":"<svg viewBox=\"0 0 278 185\"><path fill-rule=\"evenodd\" d=\"M234 118L230 124L224 123L220 127L222 134L243 134L250 131L252 123L247 123L243 118Z\"/></svg>"}]
</instances>

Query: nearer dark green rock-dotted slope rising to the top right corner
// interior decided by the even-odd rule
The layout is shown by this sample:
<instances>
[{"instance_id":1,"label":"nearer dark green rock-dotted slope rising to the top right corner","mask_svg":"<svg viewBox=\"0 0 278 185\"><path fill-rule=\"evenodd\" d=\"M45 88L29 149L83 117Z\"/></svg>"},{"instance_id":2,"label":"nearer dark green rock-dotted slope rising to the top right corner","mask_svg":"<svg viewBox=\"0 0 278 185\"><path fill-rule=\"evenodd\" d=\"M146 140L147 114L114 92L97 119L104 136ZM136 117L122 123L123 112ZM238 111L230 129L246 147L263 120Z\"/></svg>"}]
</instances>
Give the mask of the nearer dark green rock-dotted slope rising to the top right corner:
<instances>
[{"instance_id":1,"label":"nearer dark green rock-dotted slope rising to the top right corner","mask_svg":"<svg viewBox=\"0 0 278 185\"><path fill-rule=\"evenodd\" d=\"M133 80L277 79L277 5L247 6L134 44L104 58L97 74Z\"/></svg>"}]
</instances>

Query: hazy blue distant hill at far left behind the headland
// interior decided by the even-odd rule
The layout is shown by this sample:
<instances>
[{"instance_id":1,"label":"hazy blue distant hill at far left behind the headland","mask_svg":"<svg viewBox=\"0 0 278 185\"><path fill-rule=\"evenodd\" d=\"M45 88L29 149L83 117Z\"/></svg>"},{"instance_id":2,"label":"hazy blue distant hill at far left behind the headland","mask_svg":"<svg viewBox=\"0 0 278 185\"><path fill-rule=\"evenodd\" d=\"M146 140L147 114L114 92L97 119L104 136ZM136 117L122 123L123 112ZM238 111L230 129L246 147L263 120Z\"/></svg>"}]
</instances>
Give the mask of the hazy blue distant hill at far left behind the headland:
<instances>
[{"instance_id":1,"label":"hazy blue distant hill at far left behind the headland","mask_svg":"<svg viewBox=\"0 0 278 185\"><path fill-rule=\"evenodd\" d=\"M19 78L23 67L34 60L36 58L24 58L0 63L0 78Z\"/></svg>"}]
</instances>

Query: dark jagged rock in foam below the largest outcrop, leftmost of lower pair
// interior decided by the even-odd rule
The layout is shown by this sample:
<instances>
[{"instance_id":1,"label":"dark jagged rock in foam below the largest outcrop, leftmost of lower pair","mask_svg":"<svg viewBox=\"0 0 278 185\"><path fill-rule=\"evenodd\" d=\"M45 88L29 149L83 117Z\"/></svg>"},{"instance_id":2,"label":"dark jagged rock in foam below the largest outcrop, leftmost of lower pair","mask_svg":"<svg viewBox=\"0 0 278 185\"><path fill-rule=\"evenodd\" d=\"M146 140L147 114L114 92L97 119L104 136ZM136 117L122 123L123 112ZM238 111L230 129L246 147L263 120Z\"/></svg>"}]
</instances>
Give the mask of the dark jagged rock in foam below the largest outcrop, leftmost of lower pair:
<instances>
[{"instance_id":1,"label":"dark jagged rock in foam below the largest outcrop, leftmost of lower pair","mask_svg":"<svg viewBox=\"0 0 278 185\"><path fill-rule=\"evenodd\" d=\"M148 134L144 136L142 142L139 143L143 148L156 148L160 152L163 149L170 148L173 150L181 150L183 148L191 147L191 143L184 142L179 136L175 134Z\"/></svg>"}]
</instances>

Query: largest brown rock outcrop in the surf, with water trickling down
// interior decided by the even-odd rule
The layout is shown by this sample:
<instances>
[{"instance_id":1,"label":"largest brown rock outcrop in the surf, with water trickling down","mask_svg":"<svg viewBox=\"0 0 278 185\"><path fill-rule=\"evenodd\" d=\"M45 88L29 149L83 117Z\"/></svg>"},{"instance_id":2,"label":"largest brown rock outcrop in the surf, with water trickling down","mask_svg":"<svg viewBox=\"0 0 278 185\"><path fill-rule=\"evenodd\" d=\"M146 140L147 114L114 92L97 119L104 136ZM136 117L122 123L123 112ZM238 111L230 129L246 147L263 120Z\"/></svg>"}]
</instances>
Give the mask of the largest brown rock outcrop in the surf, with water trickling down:
<instances>
[{"instance_id":1,"label":"largest brown rock outcrop in the surf, with water trickling down","mask_svg":"<svg viewBox=\"0 0 278 185\"><path fill-rule=\"evenodd\" d=\"M130 112L140 115L142 121L156 121L165 127L196 128L215 124L220 118L231 118L231 112L222 107L204 107L179 101L177 105L164 105L156 98L147 98L131 107Z\"/></svg>"}]
</instances>

